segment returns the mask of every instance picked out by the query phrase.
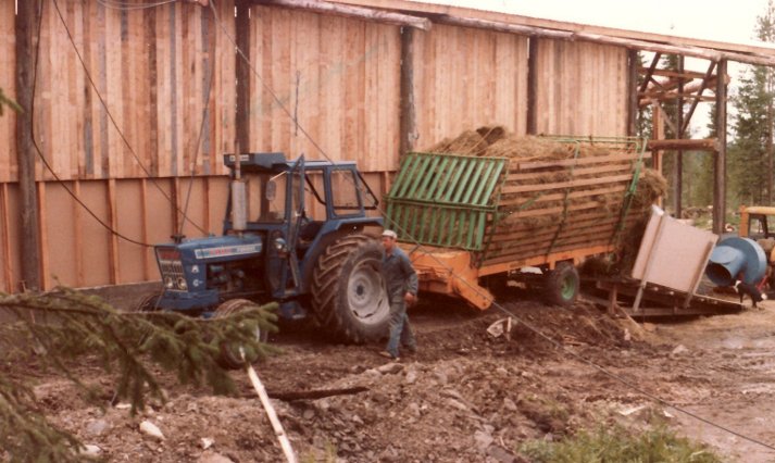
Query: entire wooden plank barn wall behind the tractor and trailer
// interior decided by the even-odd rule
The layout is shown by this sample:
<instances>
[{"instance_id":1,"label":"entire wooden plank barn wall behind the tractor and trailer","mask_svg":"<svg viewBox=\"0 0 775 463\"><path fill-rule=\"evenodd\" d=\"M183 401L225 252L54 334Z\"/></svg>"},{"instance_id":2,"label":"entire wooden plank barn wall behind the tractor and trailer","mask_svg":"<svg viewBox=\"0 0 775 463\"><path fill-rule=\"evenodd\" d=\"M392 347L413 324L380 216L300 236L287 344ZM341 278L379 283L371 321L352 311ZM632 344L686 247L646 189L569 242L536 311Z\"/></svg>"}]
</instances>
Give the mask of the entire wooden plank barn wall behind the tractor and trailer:
<instances>
[{"instance_id":1,"label":"entire wooden plank barn wall behind the tractor and trailer","mask_svg":"<svg viewBox=\"0 0 775 463\"><path fill-rule=\"evenodd\" d=\"M234 37L234 1L216 3L220 24L209 8L189 2L126 11L59 4L89 75L53 2L43 2L34 135L62 180L37 161L45 289L155 280L152 250L129 240L221 232L227 195L221 154L234 149L236 134L236 57L221 27ZM400 27L253 7L250 40L258 75L250 82L247 149L355 160L372 189L387 192L399 161ZM417 148L483 124L526 132L526 37L434 24L415 30L414 41ZM625 133L625 50L541 40L538 51L539 132ZM0 87L12 98L14 70L14 9L5 1ZM0 117L0 137L14 140L17 117L10 111ZM22 286L15 159L14 142L0 148L3 291Z\"/></svg>"}]
</instances>

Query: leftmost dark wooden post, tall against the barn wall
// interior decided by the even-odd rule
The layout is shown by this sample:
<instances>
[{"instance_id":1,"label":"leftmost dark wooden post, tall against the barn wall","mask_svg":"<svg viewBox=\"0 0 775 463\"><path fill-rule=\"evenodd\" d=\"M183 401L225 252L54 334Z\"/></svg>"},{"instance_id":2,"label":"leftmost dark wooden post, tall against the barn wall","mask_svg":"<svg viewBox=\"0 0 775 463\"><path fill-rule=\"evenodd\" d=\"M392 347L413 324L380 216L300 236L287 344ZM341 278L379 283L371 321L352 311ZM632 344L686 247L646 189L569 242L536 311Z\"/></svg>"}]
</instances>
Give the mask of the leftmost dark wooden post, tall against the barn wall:
<instances>
[{"instance_id":1,"label":"leftmost dark wooden post, tall against the barn wall","mask_svg":"<svg viewBox=\"0 0 775 463\"><path fill-rule=\"evenodd\" d=\"M33 142L33 86L35 51L38 35L37 1L17 2L16 14L16 102L24 109L16 117L16 162L18 164L20 238L22 284L30 290L40 289L40 228L38 198L35 186L35 145ZM16 221L12 221L16 222ZM14 288L9 288L13 290Z\"/></svg>"}]
</instances>

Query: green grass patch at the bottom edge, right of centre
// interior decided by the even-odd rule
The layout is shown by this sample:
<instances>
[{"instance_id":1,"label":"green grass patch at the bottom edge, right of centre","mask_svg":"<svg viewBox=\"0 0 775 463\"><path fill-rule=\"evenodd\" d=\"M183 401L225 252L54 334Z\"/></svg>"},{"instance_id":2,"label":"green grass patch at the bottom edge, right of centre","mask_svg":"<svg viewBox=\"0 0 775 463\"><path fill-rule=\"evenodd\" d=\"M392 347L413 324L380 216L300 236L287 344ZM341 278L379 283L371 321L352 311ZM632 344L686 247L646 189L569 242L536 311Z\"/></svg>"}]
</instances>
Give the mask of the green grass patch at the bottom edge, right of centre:
<instances>
[{"instance_id":1,"label":"green grass patch at the bottom edge, right of centre","mask_svg":"<svg viewBox=\"0 0 775 463\"><path fill-rule=\"evenodd\" d=\"M583 430L550 442L529 440L517 451L536 463L721 463L708 447L664 426L637 434L622 426Z\"/></svg>"}]
</instances>

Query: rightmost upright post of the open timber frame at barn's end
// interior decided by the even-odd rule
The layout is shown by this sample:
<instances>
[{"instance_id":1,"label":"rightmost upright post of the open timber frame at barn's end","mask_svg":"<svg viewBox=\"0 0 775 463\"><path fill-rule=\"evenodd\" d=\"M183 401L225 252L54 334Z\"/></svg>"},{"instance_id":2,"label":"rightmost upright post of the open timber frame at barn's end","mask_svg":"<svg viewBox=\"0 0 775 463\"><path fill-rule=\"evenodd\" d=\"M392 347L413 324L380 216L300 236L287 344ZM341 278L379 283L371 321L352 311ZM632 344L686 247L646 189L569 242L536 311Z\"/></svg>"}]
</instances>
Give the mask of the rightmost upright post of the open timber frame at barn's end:
<instances>
[{"instance_id":1,"label":"rightmost upright post of the open timber frame at barn's end","mask_svg":"<svg viewBox=\"0 0 775 463\"><path fill-rule=\"evenodd\" d=\"M713 168L713 233L721 235L726 221L726 60L718 61L716 74L716 134L718 152Z\"/></svg>"}]
</instances>

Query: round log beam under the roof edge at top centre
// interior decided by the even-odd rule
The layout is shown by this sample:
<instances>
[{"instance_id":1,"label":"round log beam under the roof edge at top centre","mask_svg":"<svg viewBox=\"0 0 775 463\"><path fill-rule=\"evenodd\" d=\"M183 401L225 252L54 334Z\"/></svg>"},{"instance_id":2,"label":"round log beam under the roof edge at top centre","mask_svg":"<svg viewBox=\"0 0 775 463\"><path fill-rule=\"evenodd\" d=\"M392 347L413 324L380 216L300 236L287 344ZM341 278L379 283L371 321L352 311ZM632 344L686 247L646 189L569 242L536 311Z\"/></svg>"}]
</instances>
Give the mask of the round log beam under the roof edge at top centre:
<instances>
[{"instance_id":1,"label":"round log beam under the roof edge at top centre","mask_svg":"<svg viewBox=\"0 0 775 463\"><path fill-rule=\"evenodd\" d=\"M430 30L430 21L426 17L393 13L373 8L353 7L318 0L258 0L253 3L309 10L314 11L315 13L336 14L338 16L357 17L359 20L375 21L379 23L395 24L398 26L414 27L422 30Z\"/></svg>"}]
</instances>

